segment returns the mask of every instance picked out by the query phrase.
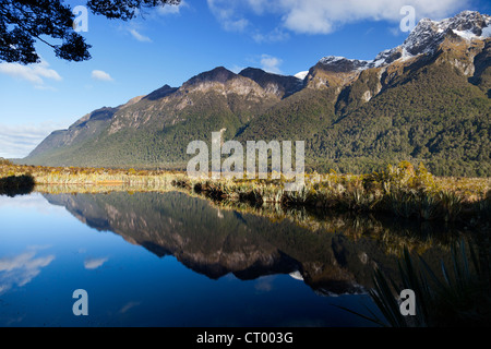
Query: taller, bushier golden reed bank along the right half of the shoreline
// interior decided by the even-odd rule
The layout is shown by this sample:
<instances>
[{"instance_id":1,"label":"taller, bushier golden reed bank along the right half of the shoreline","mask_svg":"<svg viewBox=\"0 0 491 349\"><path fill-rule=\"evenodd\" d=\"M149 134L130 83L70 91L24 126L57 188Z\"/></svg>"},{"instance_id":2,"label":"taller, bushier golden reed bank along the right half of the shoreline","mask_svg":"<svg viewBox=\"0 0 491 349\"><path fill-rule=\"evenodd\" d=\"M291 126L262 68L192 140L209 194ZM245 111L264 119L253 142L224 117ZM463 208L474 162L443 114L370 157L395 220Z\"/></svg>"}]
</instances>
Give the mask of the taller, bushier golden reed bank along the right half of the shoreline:
<instances>
[{"instance_id":1,"label":"taller, bushier golden reed bank along the right half of the shoreline","mask_svg":"<svg viewBox=\"0 0 491 349\"><path fill-rule=\"evenodd\" d=\"M415 169L406 161L369 174L308 174L298 191L286 191L284 180L191 180L181 176L173 184L212 200L251 205L383 212L445 221L484 220L491 214L490 179L436 178L423 166Z\"/></svg>"}]
</instances>

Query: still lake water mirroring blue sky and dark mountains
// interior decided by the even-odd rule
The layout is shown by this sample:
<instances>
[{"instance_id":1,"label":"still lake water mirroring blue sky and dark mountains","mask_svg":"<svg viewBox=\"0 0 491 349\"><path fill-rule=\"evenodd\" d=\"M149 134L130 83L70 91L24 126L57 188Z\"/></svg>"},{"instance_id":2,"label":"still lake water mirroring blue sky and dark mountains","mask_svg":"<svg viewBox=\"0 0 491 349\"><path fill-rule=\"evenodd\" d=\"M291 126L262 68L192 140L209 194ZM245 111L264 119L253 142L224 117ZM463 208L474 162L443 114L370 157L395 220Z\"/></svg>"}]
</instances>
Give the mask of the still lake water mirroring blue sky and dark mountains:
<instances>
[{"instance_id":1,"label":"still lake water mirroring blue sky and dark mountains","mask_svg":"<svg viewBox=\"0 0 491 349\"><path fill-rule=\"evenodd\" d=\"M373 267L395 275L404 244L447 253L420 225L307 218L181 192L0 196L0 326L371 326L334 305L374 309Z\"/></svg>"}]
</instances>

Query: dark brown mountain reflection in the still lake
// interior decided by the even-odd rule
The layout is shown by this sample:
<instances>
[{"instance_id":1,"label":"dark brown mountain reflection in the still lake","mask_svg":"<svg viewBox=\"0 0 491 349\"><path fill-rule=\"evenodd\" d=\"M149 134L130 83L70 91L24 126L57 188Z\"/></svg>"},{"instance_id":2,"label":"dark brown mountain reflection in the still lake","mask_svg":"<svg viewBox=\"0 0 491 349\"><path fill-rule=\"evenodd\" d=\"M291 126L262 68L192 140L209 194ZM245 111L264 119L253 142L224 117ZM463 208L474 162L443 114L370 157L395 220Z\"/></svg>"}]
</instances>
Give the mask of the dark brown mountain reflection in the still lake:
<instances>
[{"instance_id":1,"label":"dark brown mountain reflection in the still lake","mask_svg":"<svg viewBox=\"0 0 491 349\"><path fill-rule=\"evenodd\" d=\"M173 255L211 278L290 274L316 291L345 293L370 287L375 265L396 269L395 255L370 236L274 222L180 192L44 195L92 228L113 231L158 256Z\"/></svg>"}]
</instances>

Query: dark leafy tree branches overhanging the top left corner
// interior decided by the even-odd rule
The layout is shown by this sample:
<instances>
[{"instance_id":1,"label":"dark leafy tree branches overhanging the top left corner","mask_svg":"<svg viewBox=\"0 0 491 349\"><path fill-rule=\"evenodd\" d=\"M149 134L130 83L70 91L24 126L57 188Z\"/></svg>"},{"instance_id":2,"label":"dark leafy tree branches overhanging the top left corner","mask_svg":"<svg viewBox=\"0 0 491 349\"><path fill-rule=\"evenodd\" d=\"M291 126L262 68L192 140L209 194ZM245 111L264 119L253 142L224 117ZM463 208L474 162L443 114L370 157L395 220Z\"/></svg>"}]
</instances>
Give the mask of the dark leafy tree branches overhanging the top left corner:
<instances>
[{"instance_id":1,"label":"dark leafy tree branches overhanging the top left corner","mask_svg":"<svg viewBox=\"0 0 491 349\"><path fill-rule=\"evenodd\" d=\"M180 0L88 0L87 8L107 19L129 21L144 8L179 3ZM0 62L39 62L36 40L51 47L61 59L91 59L91 45L73 29L73 20L72 9L62 0L0 0ZM62 44L51 44L45 36L61 39Z\"/></svg>"}]
</instances>

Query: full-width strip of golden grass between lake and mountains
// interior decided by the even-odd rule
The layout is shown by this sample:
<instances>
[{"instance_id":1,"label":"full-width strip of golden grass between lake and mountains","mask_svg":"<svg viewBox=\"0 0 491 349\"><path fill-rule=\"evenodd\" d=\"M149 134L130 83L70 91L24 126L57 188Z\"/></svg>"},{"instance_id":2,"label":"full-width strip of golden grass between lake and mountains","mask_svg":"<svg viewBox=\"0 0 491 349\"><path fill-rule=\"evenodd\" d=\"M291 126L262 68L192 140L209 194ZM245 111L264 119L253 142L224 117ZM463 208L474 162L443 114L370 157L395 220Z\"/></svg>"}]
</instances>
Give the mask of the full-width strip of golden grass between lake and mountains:
<instances>
[{"instance_id":1,"label":"full-width strip of golden grass between lake and mountains","mask_svg":"<svg viewBox=\"0 0 491 349\"><path fill-rule=\"evenodd\" d=\"M386 212L424 220L482 219L490 214L491 178L434 177L408 161L367 174L308 173L306 184L286 191L284 178L191 179L184 172L80 167L40 167L0 161L0 178L32 176L36 191L169 191L176 188L215 201L283 207Z\"/></svg>"}]
</instances>

